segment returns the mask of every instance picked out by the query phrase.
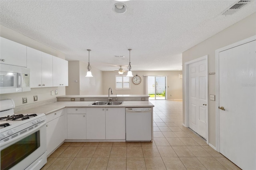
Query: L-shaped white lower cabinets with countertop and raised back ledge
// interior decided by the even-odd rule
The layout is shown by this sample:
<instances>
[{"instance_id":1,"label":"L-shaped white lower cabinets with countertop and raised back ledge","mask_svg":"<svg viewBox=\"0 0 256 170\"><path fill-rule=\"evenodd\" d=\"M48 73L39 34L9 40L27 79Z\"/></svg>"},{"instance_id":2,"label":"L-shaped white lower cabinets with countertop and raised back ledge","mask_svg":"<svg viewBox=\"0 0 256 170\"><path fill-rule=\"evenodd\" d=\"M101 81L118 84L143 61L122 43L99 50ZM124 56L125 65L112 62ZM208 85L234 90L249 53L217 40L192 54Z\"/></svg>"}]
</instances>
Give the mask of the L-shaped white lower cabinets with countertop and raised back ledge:
<instances>
[{"instance_id":1,"label":"L-shaped white lower cabinets with countertop and raised back ledge","mask_svg":"<svg viewBox=\"0 0 256 170\"><path fill-rule=\"evenodd\" d=\"M91 98L90 98L91 97ZM112 101L116 101L116 95L110 95ZM137 98L137 101L127 101L128 98ZM75 101L71 101L74 98ZM77 101L78 99L85 101ZM126 142L127 119L126 109L135 109L135 115L147 111L148 119L142 119L139 123L141 128L148 125L151 134L146 140L136 139L130 141L152 141L153 139L153 107L148 100L148 95L117 95L120 105L92 105L95 101L107 101L108 95L82 96L68 95L60 96L57 101L17 111L16 113L46 114L46 144L47 154L50 156L64 141L66 142ZM140 100L138 100L140 99ZM145 101L141 101L145 99ZM88 101L87 101L88 100ZM136 109L137 108L137 109ZM131 114L131 113L129 113ZM134 114L134 113L132 113ZM143 114L141 114L143 115ZM145 114L144 114L145 115ZM134 123L136 120L130 120ZM135 133L140 131L136 129Z\"/></svg>"}]
</instances>

